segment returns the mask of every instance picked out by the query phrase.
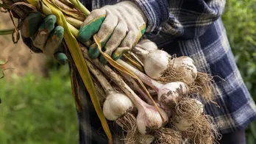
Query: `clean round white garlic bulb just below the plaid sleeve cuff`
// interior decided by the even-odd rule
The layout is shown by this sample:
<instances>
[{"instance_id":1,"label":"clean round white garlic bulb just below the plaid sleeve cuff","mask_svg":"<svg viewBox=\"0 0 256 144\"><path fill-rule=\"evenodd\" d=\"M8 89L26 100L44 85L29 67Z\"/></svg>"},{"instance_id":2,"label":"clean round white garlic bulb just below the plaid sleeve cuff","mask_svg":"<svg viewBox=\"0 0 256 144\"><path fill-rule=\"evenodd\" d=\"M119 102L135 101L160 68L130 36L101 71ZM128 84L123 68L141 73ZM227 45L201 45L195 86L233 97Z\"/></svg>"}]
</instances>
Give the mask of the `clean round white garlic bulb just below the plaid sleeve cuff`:
<instances>
[{"instance_id":1,"label":"clean round white garlic bulb just below the plaid sleeve cuff","mask_svg":"<svg viewBox=\"0 0 256 144\"><path fill-rule=\"evenodd\" d=\"M170 55L166 51L156 50L149 52L149 54L143 57L146 75L152 79L160 79L160 76L168 68L170 58Z\"/></svg>"}]
</instances>

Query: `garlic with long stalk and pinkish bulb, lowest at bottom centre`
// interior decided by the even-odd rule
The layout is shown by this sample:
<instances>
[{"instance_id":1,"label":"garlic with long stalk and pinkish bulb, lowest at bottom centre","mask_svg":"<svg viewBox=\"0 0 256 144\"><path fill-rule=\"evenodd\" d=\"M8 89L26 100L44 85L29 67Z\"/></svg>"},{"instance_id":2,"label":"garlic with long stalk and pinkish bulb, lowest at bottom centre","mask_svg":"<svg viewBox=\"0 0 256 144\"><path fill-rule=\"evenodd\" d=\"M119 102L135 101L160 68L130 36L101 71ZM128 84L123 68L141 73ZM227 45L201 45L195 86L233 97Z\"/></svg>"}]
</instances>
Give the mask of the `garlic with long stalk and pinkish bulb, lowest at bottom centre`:
<instances>
[{"instance_id":1,"label":"garlic with long stalk and pinkish bulb, lowest at bottom centre","mask_svg":"<svg viewBox=\"0 0 256 144\"><path fill-rule=\"evenodd\" d=\"M160 109L160 113L163 115L165 121L162 120L157 108L146 104L145 101L142 101L141 98L139 98L136 93L124 82L124 80L121 79L121 76L118 76L118 74L116 74L107 65L102 65L99 60L90 60L88 57L88 50L86 48L83 49L83 54L88 61L93 62L96 67L101 69L107 76L110 76L113 82L115 82L115 84L117 84L118 87L120 87L121 90L123 90L124 93L126 93L127 96L132 100L133 104L135 104L135 107L138 109L138 115L136 118L138 132L141 134L146 134L149 130L159 129L161 126L166 124L168 121L168 115L163 111L163 109Z\"/></svg>"}]
</instances>

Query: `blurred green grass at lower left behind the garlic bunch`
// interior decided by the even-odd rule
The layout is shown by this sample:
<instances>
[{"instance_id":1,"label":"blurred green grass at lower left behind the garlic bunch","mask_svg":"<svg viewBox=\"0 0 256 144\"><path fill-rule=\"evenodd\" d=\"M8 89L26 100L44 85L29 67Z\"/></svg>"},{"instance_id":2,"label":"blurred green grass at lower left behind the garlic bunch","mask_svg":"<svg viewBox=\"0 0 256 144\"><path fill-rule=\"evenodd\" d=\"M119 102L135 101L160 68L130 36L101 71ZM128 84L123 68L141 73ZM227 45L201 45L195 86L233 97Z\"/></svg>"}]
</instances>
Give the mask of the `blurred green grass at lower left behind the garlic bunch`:
<instances>
[{"instance_id":1,"label":"blurred green grass at lower left behind the garlic bunch","mask_svg":"<svg viewBox=\"0 0 256 144\"><path fill-rule=\"evenodd\" d=\"M77 143L77 114L69 78L51 73L48 79L28 74L0 79L1 144Z\"/></svg>"}]
</instances>

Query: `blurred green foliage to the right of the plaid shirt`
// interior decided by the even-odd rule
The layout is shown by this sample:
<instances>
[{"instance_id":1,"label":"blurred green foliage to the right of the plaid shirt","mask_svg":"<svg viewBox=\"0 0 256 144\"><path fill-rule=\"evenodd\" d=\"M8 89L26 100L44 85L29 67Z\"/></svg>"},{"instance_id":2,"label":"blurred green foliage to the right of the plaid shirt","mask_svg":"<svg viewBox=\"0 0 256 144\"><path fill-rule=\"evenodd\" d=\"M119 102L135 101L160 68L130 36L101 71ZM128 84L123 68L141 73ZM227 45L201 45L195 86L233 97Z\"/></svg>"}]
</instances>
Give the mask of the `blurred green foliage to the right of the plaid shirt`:
<instances>
[{"instance_id":1,"label":"blurred green foliage to the right of the plaid shirt","mask_svg":"<svg viewBox=\"0 0 256 144\"><path fill-rule=\"evenodd\" d=\"M246 87L256 101L256 0L227 0L222 16L230 46ZM256 123L246 129L248 144L256 143Z\"/></svg>"}]
</instances>

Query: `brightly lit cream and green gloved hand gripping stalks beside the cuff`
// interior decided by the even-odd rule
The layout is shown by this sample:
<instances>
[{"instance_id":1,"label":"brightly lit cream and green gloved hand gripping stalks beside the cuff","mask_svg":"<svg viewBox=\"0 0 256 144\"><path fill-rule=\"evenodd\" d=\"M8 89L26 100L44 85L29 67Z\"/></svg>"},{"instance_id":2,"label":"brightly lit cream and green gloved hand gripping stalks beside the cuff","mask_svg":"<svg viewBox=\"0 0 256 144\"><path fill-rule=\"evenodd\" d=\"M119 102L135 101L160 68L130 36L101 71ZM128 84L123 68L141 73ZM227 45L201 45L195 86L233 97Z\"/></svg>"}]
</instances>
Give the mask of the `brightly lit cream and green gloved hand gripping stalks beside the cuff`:
<instances>
[{"instance_id":1,"label":"brightly lit cream and green gloved hand gripping stalks beside the cuff","mask_svg":"<svg viewBox=\"0 0 256 144\"><path fill-rule=\"evenodd\" d=\"M113 60L118 60L130 51L146 30L146 16L132 1L122 1L93 10L79 29L79 40L86 42L97 35L102 44L102 51ZM91 59L97 57L103 63L107 61L93 43L89 48Z\"/></svg>"}]
</instances>

